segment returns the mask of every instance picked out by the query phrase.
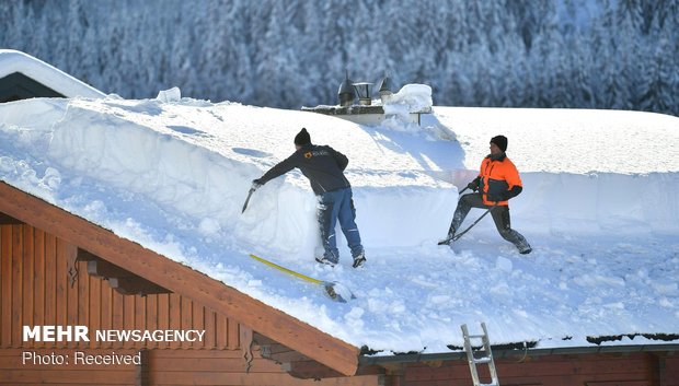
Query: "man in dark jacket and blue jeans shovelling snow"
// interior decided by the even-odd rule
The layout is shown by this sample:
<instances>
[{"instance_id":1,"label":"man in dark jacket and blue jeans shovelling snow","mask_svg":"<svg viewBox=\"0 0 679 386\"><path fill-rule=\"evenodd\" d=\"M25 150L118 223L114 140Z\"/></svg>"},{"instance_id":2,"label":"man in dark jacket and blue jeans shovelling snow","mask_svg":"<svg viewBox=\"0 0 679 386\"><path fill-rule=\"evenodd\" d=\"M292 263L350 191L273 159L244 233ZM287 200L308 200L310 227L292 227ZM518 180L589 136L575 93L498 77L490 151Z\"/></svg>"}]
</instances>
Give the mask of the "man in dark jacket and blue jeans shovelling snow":
<instances>
[{"instance_id":1,"label":"man in dark jacket and blue jeans shovelling snow","mask_svg":"<svg viewBox=\"0 0 679 386\"><path fill-rule=\"evenodd\" d=\"M253 188L257 189L271 179L288 173L295 167L309 178L311 189L319 199L319 225L321 241L325 253L317 257L317 261L334 266L340 261L340 250L335 238L335 224L340 226L354 257L354 268L366 261L364 247L360 244L360 234L356 226L356 209L352 196L352 186L344 176L349 160L338 151L327 145L311 144L311 137L307 129L295 137L295 153L281 161L262 177L254 179Z\"/></svg>"}]
</instances>

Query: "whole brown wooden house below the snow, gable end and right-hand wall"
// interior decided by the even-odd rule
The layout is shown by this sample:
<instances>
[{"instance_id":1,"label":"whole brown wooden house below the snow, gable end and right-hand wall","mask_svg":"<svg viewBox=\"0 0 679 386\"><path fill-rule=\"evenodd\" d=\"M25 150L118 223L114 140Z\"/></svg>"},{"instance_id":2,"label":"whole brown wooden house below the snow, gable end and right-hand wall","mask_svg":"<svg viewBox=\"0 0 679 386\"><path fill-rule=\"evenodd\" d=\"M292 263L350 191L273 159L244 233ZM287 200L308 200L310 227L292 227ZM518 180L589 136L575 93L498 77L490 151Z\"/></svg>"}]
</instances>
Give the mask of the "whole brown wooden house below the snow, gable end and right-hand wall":
<instances>
[{"instance_id":1,"label":"whole brown wooden house below the snow, gable end and right-hand wall","mask_svg":"<svg viewBox=\"0 0 679 386\"><path fill-rule=\"evenodd\" d=\"M2 182L0 254L1 385L471 385L459 350L369 355ZM24 326L50 326L49 339ZM59 339L73 338L55 334L68 326L205 332L193 341ZM679 386L677 338L494 354L504 386Z\"/></svg>"}]
</instances>

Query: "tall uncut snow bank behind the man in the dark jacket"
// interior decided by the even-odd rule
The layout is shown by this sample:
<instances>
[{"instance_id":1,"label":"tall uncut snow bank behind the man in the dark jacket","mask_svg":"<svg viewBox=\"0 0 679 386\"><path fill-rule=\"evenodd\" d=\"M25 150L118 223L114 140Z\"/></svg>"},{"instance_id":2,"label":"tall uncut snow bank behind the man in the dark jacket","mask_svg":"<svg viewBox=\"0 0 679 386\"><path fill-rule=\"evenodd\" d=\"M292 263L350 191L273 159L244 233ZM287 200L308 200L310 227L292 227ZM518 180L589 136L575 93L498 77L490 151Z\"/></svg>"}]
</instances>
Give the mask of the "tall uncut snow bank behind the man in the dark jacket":
<instances>
[{"instance_id":1,"label":"tall uncut snow bank behind the man in the dark jacket","mask_svg":"<svg viewBox=\"0 0 679 386\"><path fill-rule=\"evenodd\" d=\"M59 168L141 195L166 210L189 215L199 224L202 233L216 236L223 232L234 241L275 246L272 250L275 255L311 259L320 246L317 204L309 184L300 174L286 177L291 186L284 184L286 178L265 186L253 197L249 211L240 214L251 180L294 151L291 139L299 125L281 125L277 130L286 134L280 136L280 142L269 139L262 144L253 137L264 139L268 136L264 130L252 127L241 130L222 122L231 115L243 116L261 109L217 106L197 122L180 117L183 112L176 109L186 106L164 104L161 100L74 100L67 107L66 103L57 104L57 115L62 116L59 119L53 116L46 120L48 125L38 128L51 137L45 149L48 160ZM179 100L172 97L171 101ZM349 145L350 141L336 141L333 137L338 133L321 130L311 129L314 142L338 143L337 149L350 159L347 175L356 186L359 224L367 245L407 246L427 238L423 229L413 222L401 223L392 232L383 226L383 223L398 224L403 214L388 210L392 206L417 208L418 217L437 218L438 225L448 221L444 213L450 211L456 197L449 185L437 183L416 169L394 169L399 164L410 163L407 155L366 138L360 152L376 153L370 164L382 167L368 173L371 165L352 149L355 144L342 149L342 143ZM344 131L341 136L347 139L349 136L367 137L355 126ZM324 139L329 142L318 142ZM281 142L290 145L281 147ZM441 189L446 186L448 188ZM418 202L437 203L423 208Z\"/></svg>"}]
</instances>

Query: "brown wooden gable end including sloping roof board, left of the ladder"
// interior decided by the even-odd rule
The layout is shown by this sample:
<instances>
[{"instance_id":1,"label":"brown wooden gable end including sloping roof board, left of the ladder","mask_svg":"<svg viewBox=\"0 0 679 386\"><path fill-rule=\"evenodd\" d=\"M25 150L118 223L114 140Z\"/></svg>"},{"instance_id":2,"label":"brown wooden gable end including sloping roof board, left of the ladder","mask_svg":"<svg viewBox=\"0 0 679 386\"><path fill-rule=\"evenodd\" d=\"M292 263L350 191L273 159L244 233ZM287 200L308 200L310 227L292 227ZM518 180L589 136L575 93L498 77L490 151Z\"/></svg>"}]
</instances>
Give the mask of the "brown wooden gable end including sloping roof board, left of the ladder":
<instances>
[{"instance_id":1,"label":"brown wooden gable end including sloping roof board, left of the ladder","mask_svg":"<svg viewBox=\"0 0 679 386\"><path fill-rule=\"evenodd\" d=\"M0 213L2 385L382 382L377 366L359 369L358 348L4 183ZM23 326L205 335L202 341L35 341L24 339ZM80 352L99 362L139 354L140 363L74 363Z\"/></svg>"}]
</instances>

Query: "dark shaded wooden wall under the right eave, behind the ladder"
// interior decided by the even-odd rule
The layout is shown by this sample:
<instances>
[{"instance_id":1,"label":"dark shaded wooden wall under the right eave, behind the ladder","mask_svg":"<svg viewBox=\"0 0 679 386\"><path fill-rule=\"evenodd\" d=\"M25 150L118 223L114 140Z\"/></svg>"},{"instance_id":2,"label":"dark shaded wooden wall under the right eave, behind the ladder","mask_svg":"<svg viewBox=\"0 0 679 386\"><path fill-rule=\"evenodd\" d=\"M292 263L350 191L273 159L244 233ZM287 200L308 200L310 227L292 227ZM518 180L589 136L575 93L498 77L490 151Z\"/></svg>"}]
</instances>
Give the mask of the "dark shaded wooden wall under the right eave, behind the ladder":
<instances>
[{"instance_id":1,"label":"dark shaded wooden wall under the right eave, behind the ladder","mask_svg":"<svg viewBox=\"0 0 679 386\"><path fill-rule=\"evenodd\" d=\"M676 386L676 381L659 382L657 364L658 356L653 353L550 355L529 358L525 362L496 361L503 386ZM487 365L477 369L482 383L490 383ZM408 364L402 376L394 379L393 386L469 386L471 383L467 361L456 361L436 365Z\"/></svg>"}]
</instances>

